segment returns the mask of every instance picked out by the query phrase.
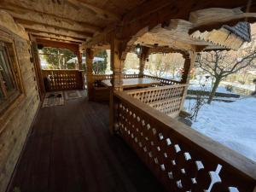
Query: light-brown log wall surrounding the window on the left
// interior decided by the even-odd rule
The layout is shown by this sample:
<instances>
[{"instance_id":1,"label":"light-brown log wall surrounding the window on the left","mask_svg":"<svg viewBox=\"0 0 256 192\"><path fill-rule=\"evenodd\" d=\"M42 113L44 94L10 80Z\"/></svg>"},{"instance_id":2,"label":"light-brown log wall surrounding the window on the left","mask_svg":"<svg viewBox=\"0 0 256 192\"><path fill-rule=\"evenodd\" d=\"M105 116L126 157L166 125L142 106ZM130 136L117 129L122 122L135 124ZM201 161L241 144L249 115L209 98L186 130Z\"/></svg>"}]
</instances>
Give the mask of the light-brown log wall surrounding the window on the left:
<instances>
[{"instance_id":1,"label":"light-brown log wall surrounding the window on the left","mask_svg":"<svg viewBox=\"0 0 256 192\"><path fill-rule=\"evenodd\" d=\"M0 191L7 189L40 102L30 41L25 31L20 35L22 30L9 15L0 13L0 37L12 39L15 45L11 60L16 57L22 86L20 96L0 114Z\"/></svg>"}]
</instances>

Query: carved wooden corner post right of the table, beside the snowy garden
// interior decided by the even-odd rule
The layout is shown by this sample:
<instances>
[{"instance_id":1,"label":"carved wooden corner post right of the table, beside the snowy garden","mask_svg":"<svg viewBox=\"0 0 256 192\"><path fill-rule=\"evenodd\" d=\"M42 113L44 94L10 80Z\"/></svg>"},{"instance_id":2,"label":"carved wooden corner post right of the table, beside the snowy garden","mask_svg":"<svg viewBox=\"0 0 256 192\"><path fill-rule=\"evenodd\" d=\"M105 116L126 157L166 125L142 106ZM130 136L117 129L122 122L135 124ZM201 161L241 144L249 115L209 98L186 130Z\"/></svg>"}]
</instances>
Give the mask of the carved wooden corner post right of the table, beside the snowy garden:
<instances>
[{"instance_id":1,"label":"carved wooden corner post right of the table, beside the snowy garden","mask_svg":"<svg viewBox=\"0 0 256 192\"><path fill-rule=\"evenodd\" d=\"M185 59L185 61L184 61L183 76L181 79L181 83L187 84L187 86L183 92L183 99L181 102L180 110L183 109L185 98L187 96L187 92L189 89L190 71L195 65L195 55L196 55L196 53L194 51L189 51L189 52L183 54L183 58Z\"/></svg>"}]
</instances>

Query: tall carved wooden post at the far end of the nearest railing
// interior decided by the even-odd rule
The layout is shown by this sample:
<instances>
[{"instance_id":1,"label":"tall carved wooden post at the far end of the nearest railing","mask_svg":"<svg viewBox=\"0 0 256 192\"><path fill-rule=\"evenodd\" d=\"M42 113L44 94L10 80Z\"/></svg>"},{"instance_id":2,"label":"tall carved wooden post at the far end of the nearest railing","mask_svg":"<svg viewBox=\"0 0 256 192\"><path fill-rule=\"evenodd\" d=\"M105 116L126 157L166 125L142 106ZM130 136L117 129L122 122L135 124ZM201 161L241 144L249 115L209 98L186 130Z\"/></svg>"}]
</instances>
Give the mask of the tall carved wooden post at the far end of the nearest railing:
<instances>
[{"instance_id":1,"label":"tall carved wooden post at the far end of the nearest railing","mask_svg":"<svg viewBox=\"0 0 256 192\"><path fill-rule=\"evenodd\" d=\"M115 115L117 106L114 101L114 91L123 90L123 68L124 61L121 60L122 54L122 42L116 38L113 38L111 41L111 70L113 71L113 79L111 79L112 88L110 90L110 99L109 99L109 131L111 134L118 129L118 126L115 124Z\"/></svg>"}]
</instances>

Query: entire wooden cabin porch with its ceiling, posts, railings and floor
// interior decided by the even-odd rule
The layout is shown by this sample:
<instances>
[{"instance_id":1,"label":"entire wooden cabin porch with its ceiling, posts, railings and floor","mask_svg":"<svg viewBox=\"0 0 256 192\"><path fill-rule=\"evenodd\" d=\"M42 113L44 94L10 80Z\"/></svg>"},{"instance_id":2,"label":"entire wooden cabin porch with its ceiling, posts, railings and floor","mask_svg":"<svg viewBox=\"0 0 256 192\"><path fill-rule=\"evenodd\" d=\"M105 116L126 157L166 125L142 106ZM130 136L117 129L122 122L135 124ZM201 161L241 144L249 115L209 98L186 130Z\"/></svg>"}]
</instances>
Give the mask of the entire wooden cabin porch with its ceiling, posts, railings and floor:
<instances>
[{"instance_id":1,"label":"entire wooden cabin porch with its ceiling, posts, railings and floor","mask_svg":"<svg viewBox=\"0 0 256 192\"><path fill-rule=\"evenodd\" d=\"M255 20L253 0L0 1L0 191L255 192L256 162L176 119L197 53L239 49ZM72 50L77 70L42 70L38 45ZM101 49L112 75L92 73ZM140 73L124 74L135 51ZM181 81L143 73L172 52ZM81 98L42 108L59 90Z\"/></svg>"}]
</instances>

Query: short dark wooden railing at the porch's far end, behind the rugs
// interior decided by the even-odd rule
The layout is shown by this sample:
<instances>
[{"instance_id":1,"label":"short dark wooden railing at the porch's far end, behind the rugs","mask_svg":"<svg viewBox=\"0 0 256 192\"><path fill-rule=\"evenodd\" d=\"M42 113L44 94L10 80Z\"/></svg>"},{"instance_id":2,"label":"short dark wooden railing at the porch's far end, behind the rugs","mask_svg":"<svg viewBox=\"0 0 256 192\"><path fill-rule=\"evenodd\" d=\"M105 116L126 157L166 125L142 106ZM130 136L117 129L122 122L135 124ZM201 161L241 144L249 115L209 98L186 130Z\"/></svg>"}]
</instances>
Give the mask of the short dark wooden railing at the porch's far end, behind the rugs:
<instances>
[{"instance_id":1,"label":"short dark wooden railing at the porch's far end, behind the rugs","mask_svg":"<svg viewBox=\"0 0 256 192\"><path fill-rule=\"evenodd\" d=\"M83 71L42 70L42 76L47 91L84 89Z\"/></svg>"}]
</instances>

